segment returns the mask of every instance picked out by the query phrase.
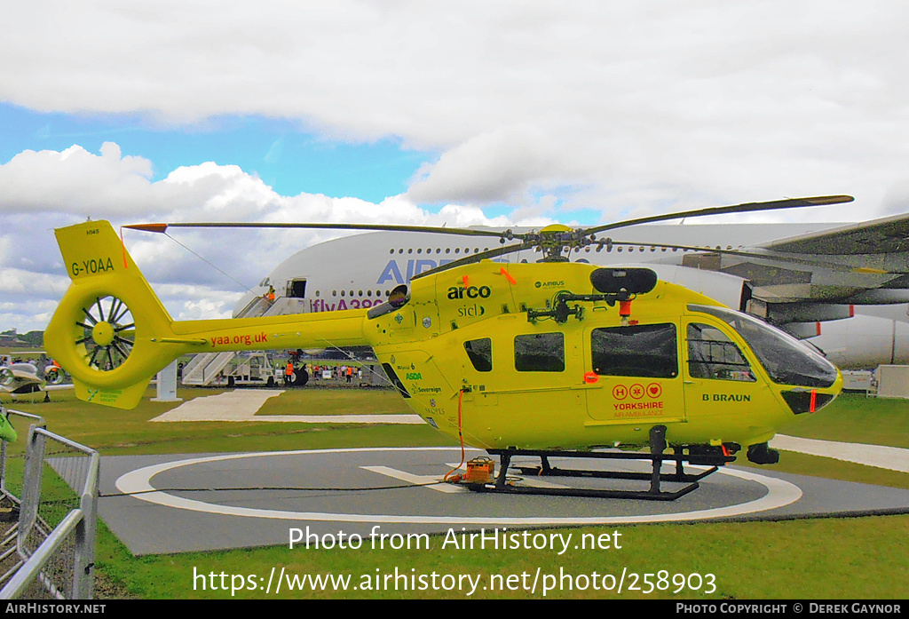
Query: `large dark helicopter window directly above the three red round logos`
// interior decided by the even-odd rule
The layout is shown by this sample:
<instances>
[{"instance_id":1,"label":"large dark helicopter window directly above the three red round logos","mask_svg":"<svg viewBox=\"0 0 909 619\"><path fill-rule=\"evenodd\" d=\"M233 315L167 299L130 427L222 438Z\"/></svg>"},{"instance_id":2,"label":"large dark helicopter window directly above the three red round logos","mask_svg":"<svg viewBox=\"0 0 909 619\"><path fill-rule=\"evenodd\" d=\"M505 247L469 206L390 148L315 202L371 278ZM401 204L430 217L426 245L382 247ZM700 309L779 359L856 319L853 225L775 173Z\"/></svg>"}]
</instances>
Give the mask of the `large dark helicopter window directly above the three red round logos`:
<instances>
[{"instance_id":1,"label":"large dark helicopter window directly above the three red round logos","mask_svg":"<svg viewBox=\"0 0 909 619\"><path fill-rule=\"evenodd\" d=\"M590 350L596 374L674 378L678 347L674 324L632 324L594 329Z\"/></svg>"}]
</instances>

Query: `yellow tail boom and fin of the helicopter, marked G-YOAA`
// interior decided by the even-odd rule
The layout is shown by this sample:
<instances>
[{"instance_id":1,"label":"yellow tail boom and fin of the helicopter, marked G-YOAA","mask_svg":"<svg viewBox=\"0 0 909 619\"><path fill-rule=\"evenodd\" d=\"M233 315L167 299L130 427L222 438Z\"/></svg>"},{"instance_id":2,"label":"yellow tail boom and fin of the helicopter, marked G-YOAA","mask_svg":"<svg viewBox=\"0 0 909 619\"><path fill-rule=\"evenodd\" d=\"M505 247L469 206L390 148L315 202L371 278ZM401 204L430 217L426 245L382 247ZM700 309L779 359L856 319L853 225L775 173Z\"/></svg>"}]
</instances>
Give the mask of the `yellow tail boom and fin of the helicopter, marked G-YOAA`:
<instances>
[{"instance_id":1,"label":"yellow tail boom and fin of the helicopter, marked G-YOAA","mask_svg":"<svg viewBox=\"0 0 909 619\"><path fill-rule=\"evenodd\" d=\"M133 408L151 377L183 354L368 344L365 310L175 322L114 228L56 231L72 284L45 330L45 347L83 400Z\"/></svg>"}]
</instances>

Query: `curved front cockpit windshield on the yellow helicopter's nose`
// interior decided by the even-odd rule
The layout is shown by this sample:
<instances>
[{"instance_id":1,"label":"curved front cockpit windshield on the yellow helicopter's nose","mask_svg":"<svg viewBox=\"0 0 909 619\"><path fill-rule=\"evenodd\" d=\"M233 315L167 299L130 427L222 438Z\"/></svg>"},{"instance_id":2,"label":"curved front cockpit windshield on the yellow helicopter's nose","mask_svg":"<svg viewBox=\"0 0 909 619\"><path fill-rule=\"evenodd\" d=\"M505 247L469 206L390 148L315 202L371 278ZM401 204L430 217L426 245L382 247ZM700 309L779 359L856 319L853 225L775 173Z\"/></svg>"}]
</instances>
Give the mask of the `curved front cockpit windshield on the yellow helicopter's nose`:
<instances>
[{"instance_id":1,"label":"curved front cockpit windshield on the yellow helicopter's nose","mask_svg":"<svg viewBox=\"0 0 909 619\"><path fill-rule=\"evenodd\" d=\"M724 307L688 305L688 309L714 315L729 324L751 347L774 383L829 387L836 381L834 364L790 334Z\"/></svg>"}]
</instances>

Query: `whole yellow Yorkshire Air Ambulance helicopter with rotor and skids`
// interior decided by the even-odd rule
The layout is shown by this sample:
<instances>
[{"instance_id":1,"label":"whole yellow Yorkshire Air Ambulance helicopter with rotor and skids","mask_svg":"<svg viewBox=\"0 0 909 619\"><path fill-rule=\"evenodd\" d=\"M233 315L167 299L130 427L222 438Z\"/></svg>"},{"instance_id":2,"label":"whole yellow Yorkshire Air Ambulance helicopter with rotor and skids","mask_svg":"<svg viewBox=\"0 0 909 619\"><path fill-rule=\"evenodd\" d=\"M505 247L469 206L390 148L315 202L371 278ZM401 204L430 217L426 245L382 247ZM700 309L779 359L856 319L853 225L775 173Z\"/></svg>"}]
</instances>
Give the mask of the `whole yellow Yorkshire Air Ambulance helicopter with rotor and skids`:
<instances>
[{"instance_id":1,"label":"whole yellow Yorkshire Air Ambulance helicopter with rotor and skids","mask_svg":"<svg viewBox=\"0 0 909 619\"><path fill-rule=\"evenodd\" d=\"M851 199L751 203L525 235L447 229L522 242L421 274L410 290L398 286L369 310L184 322L167 314L111 225L90 221L56 231L72 285L45 345L72 374L79 398L119 408L134 407L151 377L182 354L368 345L427 423L500 456L494 483L474 479L474 489L671 500L741 449L755 463L775 463L767 441L776 429L832 401L842 378L813 348L753 316L658 281L649 269L571 263L564 250L611 244L595 233L642 221ZM490 259L531 246L544 260ZM539 456L538 474L630 477L650 487L518 487L505 477L514 455ZM556 455L644 459L652 470L556 469L548 461ZM664 461L676 463L674 473L662 473ZM688 474L684 462L713 468ZM667 492L661 481L689 484Z\"/></svg>"}]
</instances>

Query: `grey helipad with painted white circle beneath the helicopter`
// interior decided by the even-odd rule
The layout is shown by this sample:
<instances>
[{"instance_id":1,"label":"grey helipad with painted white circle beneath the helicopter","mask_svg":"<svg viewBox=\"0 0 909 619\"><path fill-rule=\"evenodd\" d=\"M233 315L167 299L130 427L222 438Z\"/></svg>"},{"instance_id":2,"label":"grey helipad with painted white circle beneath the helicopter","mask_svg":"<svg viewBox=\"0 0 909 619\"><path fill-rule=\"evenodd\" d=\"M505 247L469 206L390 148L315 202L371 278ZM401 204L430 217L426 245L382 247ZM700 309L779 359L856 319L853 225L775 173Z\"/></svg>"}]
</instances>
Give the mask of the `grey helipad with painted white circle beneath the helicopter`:
<instances>
[{"instance_id":1,"label":"grey helipad with painted white circle beneath the helicopter","mask_svg":"<svg viewBox=\"0 0 909 619\"><path fill-rule=\"evenodd\" d=\"M477 454L483 452L470 452L468 458ZM476 494L438 484L459 460L460 450L448 447L107 456L101 463L99 509L134 554L287 544L292 528L306 527L319 535L365 536L445 533L462 527L514 530L909 513L909 490L734 466L720 469L702 480L699 489L674 502ZM522 462L538 464L539 459L513 460L515 465ZM593 465L557 458L552 463ZM515 483L592 487L606 482L523 476ZM609 483L615 487L615 480ZM646 489L646 482L619 483Z\"/></svg>"}]
</instances>

